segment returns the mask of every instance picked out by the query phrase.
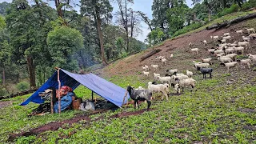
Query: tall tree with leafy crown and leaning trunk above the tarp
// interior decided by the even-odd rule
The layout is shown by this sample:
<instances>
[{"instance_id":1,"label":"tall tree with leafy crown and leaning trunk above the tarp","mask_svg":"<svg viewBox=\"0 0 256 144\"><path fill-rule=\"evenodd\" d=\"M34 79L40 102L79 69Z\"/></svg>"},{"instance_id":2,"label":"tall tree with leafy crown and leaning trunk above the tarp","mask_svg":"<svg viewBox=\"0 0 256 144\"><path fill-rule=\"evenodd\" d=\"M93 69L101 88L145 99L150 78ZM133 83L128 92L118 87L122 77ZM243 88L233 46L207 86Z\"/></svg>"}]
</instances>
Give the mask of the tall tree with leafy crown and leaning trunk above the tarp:
<instances>
[{"instance_id":1,"label":"tall tree with leafy crown and leaning trunk above the tarp","mask_svg":"<svg viewBox=\"0 0 256 144\"><path fill-rule=\"evenodd\" d=\"M81 14L94 18L97 24L98 39L101 48L102 64L107 65L105 58L105 50L102 36L102 17L110 16L113 7L110 5L109 0L82 0L81 1Z\"/></svg>"}]
</instances>

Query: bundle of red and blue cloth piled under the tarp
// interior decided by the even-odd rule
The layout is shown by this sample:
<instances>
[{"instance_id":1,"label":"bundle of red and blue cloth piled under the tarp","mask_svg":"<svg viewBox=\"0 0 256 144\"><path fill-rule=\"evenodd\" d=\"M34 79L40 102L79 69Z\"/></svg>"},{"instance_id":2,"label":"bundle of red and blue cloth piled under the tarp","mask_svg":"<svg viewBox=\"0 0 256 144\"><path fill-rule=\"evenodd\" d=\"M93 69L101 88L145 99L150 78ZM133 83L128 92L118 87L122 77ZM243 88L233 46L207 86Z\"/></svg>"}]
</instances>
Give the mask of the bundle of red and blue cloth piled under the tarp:
<instances>
[{"instance_id":1,"label":"bundle of red and blue cloth piled under the tarp","mask_svg":"<svg viewBox=\"0 0 256 144\"><path fill-rule=\"evenodd\" d=\"M69 86L62 86L59 95L61 97L61 111L66 110L74 101L75 94ZM56 90L56 98L58 98L58 90ZM58 113L58 100L54 102L54 113Z\"/></svg>"}]
</instances>

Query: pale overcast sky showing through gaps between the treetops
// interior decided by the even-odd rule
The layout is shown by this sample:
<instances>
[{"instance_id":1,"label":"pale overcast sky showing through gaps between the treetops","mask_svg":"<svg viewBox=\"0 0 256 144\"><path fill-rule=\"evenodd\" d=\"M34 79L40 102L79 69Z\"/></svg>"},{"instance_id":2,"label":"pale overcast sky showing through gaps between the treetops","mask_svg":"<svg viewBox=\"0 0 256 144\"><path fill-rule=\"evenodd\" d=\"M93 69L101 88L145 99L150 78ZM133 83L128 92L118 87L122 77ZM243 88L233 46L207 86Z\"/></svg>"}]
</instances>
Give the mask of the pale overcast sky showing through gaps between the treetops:
<instances>
[{"instance_id":1,"label":"pale overcast sky showing through gaps between the treetops","mask_svg":"<svg viewBox=\"0 0 256 144\"><path fill-rule=\"evenodd\" d=\"M29 2L33 2L32 0L28 0ZM12 2L12 0L0 0L0 2ZM79 0L73 0L71 2L78 3ZM116 2L116 1L114 1ZM50 6L54 7L54 2L48 2ZM151 6L153 4L153 0L134 0L134 4L131 6L133 10L140 10L143 13L147 14L147 16L152 19L152 10ZM189 7L192 7L192 1L186 0L186 4ZM118 5L116 3L112 3L112 6L114 6L113 12L115 13L118 10ZM54 7L55 8L55 7ZM75 6L74 10L77 10L79 12L79 6ZM148 29L148 26L143 22L142 23L142 34L139 34L137 39L144 42L144 39L146 39L146 35L150 32Z\"/></svg>"}]
</instances>

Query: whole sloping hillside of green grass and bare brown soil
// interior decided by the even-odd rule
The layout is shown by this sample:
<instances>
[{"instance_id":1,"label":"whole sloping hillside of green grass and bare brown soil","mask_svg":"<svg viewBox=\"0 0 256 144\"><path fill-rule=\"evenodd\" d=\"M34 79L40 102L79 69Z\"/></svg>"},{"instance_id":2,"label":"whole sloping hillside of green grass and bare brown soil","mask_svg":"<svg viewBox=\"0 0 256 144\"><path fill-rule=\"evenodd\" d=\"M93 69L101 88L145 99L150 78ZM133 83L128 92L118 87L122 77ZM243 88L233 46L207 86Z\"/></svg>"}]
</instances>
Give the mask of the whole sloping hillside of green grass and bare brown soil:
<instances>
[{"instance_id":1,"label":"whole sloping hillside of green grass and bare brown soil","mask_svg":"<svg viewBox=\"0 0 256 144\"><path fill-rule=\"evenodd\" d=\"M143 62L139 59L148 53L132 55L112 63L103 70L94 73L101 74L110 82L118 86L147 87L147 82L153 81L153 70L150 70L150 77L142 75L141 66L146 64L158 64L158 73L164 75L167 69L177 68L180 72L186 70L194 72L194 79L197 81L197 91L190 92L186 88L181 95L173 94L170 89L169 101L161 100L161 95L152 101L151 111L140 115L133 115L126 118L113 118L115 114L122 112L137 111L133 105L125 106L123 109L107 111L103 114L90 116L90 122L81 121L72 126L64 126L56 131L21 137L15 143L255 143L256 142L256 74L250 69L241 67L226 70L220 66L213 55L207 53L207 48L214 46L210 35L222 35L223 32L230 32L235 40L241 40L234 32L244 27L256 28L256 19L241 22L230 26L225 30L200 31L196 34L187 34L182 38L166 41L158 46L162 51L156 55L163 55L166 58L174 54L174 58L168 58L166 66L156 62L154 56ZM203 46L202 40L206 39L209 46ZM199 54L190 53L188 43L193 42L198 47ZM246 58L246 54L256 54L255 40L251 43L252 48L240 54L238 58ZM200 58L213 58L213 78L202 79L202 74L193 70L192 61L199 61ZM207 75L208 76L208 75ZM75 93L84 99L90 98L90 90L83 86L78 87ZM29 95L22 96L23 99ZM84 114L82 111L66 111L61 115L47 114L45 116L34 116L28 118L26 114L37 105L30 103L28 106L18 106L22 98L13 98L13 106L8 105L0 109L0 142L6 143L9 134L30 130L53 121L73 118L77 114ZM146 109L146 104L140 104L140 110Z\"/></svg>"}]
</instances>

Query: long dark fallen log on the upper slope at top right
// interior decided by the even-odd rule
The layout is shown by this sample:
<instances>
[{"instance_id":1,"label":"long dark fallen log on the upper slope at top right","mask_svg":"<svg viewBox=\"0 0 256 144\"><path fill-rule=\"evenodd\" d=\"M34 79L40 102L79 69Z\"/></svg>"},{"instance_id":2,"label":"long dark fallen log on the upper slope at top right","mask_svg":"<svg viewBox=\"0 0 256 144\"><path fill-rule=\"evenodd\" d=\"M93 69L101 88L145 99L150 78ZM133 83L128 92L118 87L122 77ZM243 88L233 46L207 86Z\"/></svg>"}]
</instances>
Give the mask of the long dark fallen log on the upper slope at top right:
<instances>
[{"instance_id":1,"label":"long dark fallen log on the upper slope at top right","mask_svg":"<svg viewBox=\"0 0 256 144\"><path fill-rule=\"evenodd\" d=\"M234 18L230 21L226 21L226 22L222 22L222 23L217 23L217 24L214 24L212 26L207 26L206 27L206 30L213 30L213 29L221 29L223 27L229 27L230 25L234 24L234 23L238 23L238 22L242 22L244 20L247 20L247 19L250 19L250 18L256 18L256 13L253 13L253 14L247 14L245 16L242 16L242 17L239 17L239 18Z\"/></svg>"}]
</instances>

